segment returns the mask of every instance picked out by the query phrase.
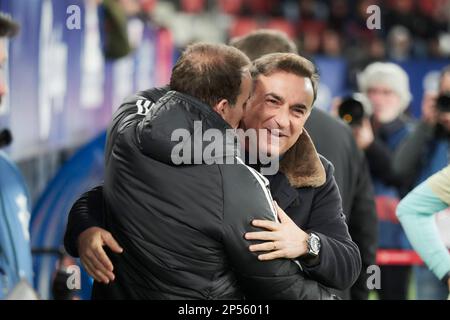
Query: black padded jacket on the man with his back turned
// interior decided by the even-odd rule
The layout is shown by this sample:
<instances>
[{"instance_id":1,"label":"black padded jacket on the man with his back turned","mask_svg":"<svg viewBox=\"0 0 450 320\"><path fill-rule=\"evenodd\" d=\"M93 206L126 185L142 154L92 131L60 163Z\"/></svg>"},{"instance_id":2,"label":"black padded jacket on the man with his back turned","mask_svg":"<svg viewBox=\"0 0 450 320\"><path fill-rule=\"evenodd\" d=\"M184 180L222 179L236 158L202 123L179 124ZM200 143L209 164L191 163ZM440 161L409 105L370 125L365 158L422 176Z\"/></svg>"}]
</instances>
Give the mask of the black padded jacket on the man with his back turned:
<instances>
[{"instance_id":1,"label":"black padded jacket on the man with his back turned","mask_svg":"<svg viewBox=\"0 0 450 320\"><path fill-rule=\"evenodd\" d=\"M250 222L276 217L267 180L239 161L223 119L174 91L151 104L142 96L127 101L108 130L103 222L124 252L110 254L116 279L95 283L93 298L332 298L294 261L261 262L249 252L243 235L256 230ZM215 164L175 165L172 134L196 137L195 121L203 131L220 130L224 152Z\"/></svg>"}]
</instances>

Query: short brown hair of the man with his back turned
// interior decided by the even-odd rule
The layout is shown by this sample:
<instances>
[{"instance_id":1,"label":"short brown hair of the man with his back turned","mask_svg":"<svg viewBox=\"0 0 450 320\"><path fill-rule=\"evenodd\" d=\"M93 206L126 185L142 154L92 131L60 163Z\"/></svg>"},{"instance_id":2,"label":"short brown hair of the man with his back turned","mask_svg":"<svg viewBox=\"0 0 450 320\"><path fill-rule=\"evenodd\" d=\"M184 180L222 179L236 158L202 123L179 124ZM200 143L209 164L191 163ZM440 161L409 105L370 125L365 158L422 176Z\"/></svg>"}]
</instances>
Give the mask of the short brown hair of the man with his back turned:
<instances>
[{"instance_id":1,"label":"short brown hair of the man with his back turned","mask_svg":"<svg viewBox=\"0 0 450 320\"><path fill-rule=\"evenodd\" d=\"M173 67L170 88L212 107L222 99L235 105L242 76L250 64L236 48L224 44L193 44Z\"/></svg>"}]
</instances>

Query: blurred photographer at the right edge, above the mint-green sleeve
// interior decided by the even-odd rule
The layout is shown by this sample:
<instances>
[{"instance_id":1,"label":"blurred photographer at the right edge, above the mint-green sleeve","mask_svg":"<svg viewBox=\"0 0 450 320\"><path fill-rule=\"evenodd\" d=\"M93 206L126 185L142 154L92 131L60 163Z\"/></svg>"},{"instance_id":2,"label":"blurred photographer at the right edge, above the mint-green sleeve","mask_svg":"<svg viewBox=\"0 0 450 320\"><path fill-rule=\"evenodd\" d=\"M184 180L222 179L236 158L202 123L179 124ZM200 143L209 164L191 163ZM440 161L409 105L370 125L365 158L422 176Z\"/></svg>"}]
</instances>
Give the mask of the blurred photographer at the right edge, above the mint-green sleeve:
<instances>
[{"instance_id":1,"label":"blurred photographer at the right edge, above the mint-green sleeve","mask_svg":"<svg viewBox=\"0 0 450 320\"><path fill-rule=\"evenodd\" d=\"M439 92L426 93L422 119L395 153L396 174L415 178L418 185L449 163L450 152L450 66L439 79ZM443 299L446 288L425 266L415 267L418 299Z\"/></svg>"}]
</instances>

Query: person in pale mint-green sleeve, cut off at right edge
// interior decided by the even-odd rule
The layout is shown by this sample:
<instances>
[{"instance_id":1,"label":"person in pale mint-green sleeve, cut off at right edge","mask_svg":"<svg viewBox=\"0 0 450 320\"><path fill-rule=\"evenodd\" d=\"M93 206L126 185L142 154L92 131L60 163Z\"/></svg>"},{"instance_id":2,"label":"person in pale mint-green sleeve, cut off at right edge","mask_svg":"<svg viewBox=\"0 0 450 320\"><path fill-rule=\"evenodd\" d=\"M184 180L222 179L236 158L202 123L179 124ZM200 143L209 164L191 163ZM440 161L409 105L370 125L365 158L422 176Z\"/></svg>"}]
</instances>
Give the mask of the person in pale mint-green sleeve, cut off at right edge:
<instances>
[{"instance_id":1,"label":"person in pale mint-green sleeve, cut off at right edge","mask_svg":"<svg viewBox=\"0 0 450 320\"><path fill-rule=\"evenodd\" d=\"M450 254L440 238L435 214L450 206L450 165L422 182L400 201L397 216L414 249L435 278L417 287L419 298L449 299ZM448 213L447 213L448 214ZM450 232L450 230L444 230Z\"/></svg>"}]
</instances>

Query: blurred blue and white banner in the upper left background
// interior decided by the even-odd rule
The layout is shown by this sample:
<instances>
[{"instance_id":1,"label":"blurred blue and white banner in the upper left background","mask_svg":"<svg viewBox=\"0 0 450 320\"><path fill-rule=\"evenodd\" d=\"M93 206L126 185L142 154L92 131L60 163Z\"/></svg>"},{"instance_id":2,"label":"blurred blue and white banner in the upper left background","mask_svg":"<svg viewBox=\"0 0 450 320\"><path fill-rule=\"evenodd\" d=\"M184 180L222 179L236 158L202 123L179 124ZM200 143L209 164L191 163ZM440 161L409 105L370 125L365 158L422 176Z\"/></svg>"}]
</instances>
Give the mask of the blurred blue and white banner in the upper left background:
<instances>
[{"instance_id":1,"label":"blurred blue and white banner in the upper left background","mask_svg":"<svg viewBox=\"0 0 450 320\"><path fill-rule=\"evenodd\" d=\"M67 27L71 5L80 9L80 29ZM7 149L14 160L89 141L127 95L168 82L173 45L165 30L134 21L142 30L139 46L108 61L96 6L82 0L3 0L0 10L22 26L9 41L10 90L0 108L0 128L14 134Z\"/></svg>"}]
</instances>

